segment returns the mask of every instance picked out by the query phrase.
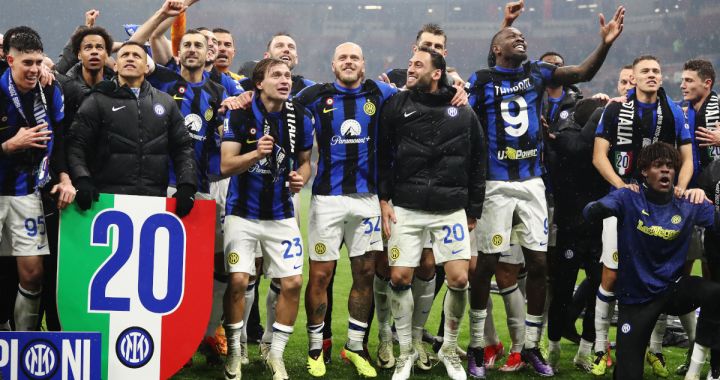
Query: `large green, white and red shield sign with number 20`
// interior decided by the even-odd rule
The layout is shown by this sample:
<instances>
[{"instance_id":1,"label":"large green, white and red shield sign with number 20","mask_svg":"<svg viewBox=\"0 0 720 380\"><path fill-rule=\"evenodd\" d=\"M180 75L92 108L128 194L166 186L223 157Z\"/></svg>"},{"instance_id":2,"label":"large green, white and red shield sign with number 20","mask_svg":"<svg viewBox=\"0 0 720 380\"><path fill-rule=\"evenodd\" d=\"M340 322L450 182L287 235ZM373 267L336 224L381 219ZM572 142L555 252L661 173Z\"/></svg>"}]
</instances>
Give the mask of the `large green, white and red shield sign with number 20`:
<instances>
[{"instance_id":1,"label":"large green, white and red shield sign with number 20","mask_svg":"<svg viewBox=\"0 0 720 380\"><path fill-rule=\"evenodd\" d=\"M63 211L60 320L102 334L104 379L169 378L202 339L215 203L196 201L183 219L174 208L174 199L103 194L88 211Z\"/></svg>"}]
</instances>

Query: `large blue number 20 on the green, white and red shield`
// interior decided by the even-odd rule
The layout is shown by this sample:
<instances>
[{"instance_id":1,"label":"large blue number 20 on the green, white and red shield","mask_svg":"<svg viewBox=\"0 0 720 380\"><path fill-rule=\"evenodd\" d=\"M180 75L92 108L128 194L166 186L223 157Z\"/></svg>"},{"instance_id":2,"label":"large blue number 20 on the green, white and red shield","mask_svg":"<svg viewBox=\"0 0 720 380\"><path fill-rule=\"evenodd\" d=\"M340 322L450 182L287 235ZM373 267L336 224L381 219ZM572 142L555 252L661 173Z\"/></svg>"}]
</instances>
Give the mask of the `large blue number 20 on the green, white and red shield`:
<instances>
[{"instance_id":1,"label":"large blue number 20 on the green, white and red shield","mask_svg":"<svg viewBox=\"0 0 720 380\"><path fill-rule=\"evenodd\" d=\"M125 265L133 252L133 223L122 211L107 210L95 217L92 226L91 244L94 246L110 246L109 231L116 227L117 249L98 269L90 282L91 311L130 311L130 298L108 297L108 282ZM168 267L167 294L164 298L156 298L153 293L155 273L155 235L161 228L167 230ZM138 247L138 283L137 296L140 303L150 312L166 314L173 311L179 304L183 294L185 275L185 229L177 217L171 214L153 214L140 227ZM131 291L128 289L128 291Z\"/></svg>"}]
</instances>

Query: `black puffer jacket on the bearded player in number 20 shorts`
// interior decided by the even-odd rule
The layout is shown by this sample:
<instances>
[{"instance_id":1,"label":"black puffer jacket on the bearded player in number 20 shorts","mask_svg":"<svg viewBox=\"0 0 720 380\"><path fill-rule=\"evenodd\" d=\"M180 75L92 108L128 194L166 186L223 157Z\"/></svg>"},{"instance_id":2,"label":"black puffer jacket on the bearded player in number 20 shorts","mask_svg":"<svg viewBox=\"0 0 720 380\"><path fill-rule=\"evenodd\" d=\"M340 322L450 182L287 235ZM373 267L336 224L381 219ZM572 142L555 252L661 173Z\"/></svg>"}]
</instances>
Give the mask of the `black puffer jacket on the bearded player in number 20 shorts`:
<instances>
[{"instance_id":1,"label":"black puffer jacket on the bearded player in number 20 shorts","mask_svg":"<svg viewBox=\"0 0 720 380\"><path fill-rule=\"evenodd\" d=\"M465 209L480 218L487 155L480 121L453 107L454 89L402 91L383 106L379 149L382 200L424 211Z\"/></svg>"}]
</instances>

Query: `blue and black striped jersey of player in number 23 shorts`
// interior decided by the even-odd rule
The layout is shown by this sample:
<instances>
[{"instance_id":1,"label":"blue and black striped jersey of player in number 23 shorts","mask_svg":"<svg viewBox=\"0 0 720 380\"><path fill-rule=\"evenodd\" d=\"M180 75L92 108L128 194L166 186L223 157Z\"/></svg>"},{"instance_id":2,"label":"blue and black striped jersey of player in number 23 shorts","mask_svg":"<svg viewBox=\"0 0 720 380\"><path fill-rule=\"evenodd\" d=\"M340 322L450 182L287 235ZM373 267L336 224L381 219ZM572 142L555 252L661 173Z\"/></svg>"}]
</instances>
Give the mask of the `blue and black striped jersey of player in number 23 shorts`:
<instances>
[{"instance_id":1,"label":"blue and black striped jersey of player in number 23 shorts","mask_svg":"<svg viewBox=\"0 0 720 380\"><path fill-rule=\"evenodd\" d=\"M264 134L264 120L277 127L275 149L271 159L263 158L246 172L230 179L225 212L246 219L281 220L292 218L293 203L286 185L288 173L294 170L297 154L312 148L312 115L299 103L285 103L283 112L268 113L259 97L255 97L250 110L230 111L225 119L223 141L241 144L240 154L257 149L257 141ZM272 134L272 133L271 133ZM275 172L272 162L283 157L285 167Z\"/></svg>"}]
</instances>

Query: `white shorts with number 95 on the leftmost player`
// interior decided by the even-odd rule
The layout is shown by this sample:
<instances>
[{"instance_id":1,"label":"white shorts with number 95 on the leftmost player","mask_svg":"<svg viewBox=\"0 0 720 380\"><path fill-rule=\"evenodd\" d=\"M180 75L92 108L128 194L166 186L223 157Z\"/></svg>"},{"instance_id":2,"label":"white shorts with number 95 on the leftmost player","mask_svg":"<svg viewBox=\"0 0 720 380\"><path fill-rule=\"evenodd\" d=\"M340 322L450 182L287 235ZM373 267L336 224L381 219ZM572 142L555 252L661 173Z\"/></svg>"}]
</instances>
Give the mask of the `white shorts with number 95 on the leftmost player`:
<instances>
[{"instance_id":1,"label":"white shorts with number 95 on the leftmost player","mask_svg":"<svg viewBox=\"0 0 720 380\"><path fill-rule=\"evenodd\" d=\"M40 193L0 196L0 256L49 255Z\"/></svg>"}]
</instances>

